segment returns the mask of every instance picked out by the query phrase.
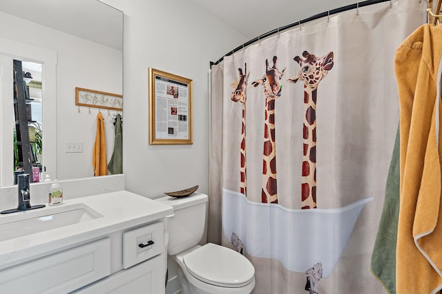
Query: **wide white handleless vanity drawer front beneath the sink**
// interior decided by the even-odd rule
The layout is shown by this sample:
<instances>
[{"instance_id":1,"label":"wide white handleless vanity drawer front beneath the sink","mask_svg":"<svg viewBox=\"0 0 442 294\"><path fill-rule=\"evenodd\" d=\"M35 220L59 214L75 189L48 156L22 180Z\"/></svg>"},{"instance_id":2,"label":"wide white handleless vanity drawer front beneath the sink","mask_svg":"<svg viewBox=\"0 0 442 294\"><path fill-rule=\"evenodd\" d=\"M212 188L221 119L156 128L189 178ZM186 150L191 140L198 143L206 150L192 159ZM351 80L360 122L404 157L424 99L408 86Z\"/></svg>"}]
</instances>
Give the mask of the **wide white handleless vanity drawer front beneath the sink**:
<instances>
[{"instance_id":1,"label":"wide white handleless vanity drawer front beneath the sink","mask_svg":"<svg viewBox=\"0 0 442 294\"><path fill-rule=\"evenodd\" d=\"M68 293L111 274L104 238L0 272L1 293Z\"/></svg>"}]
</instances>

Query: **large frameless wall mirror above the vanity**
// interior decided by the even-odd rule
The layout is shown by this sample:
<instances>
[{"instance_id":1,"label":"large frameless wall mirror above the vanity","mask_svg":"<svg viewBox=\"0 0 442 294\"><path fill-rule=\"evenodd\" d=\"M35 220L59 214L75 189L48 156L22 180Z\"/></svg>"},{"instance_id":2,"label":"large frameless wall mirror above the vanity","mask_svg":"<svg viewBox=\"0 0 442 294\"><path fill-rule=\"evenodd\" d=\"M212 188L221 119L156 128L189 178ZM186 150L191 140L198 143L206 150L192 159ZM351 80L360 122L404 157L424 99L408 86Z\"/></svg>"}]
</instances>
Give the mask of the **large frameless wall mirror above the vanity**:
<instances>
[{"instance_id":1,"label":"large frameless wall mirror above the vanity","mask_svg":"<svg viewBox=\"0 0 442 294\"><path fill-rule=\"evenodd\" d=\"M93 176L100 110L77 107L75 87L122 94L122 48L123 13L106 3L0 0L0 187L13 185L12 61L21 60L32 74L35 103L41 105L34 116L43 130L42 166L52 179L84 178ZM116 112L101 111L109 160ZM71 143L82 151L69 152Z\"/></svg>"}]
</instances>

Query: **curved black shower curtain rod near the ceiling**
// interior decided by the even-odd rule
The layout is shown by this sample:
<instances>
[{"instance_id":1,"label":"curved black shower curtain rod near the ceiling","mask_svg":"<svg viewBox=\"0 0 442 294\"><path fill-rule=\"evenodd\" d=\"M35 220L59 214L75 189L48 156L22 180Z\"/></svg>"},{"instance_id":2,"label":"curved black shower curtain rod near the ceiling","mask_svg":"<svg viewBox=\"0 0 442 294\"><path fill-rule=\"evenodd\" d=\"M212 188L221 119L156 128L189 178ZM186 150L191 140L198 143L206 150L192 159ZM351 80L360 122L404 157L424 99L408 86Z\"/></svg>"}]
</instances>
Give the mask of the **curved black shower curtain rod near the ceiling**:
<instances>
[{"instance_id":1,"label":"curved black shower curtain rod near the ceiling","mask_svg":"<svg viewBox=\"0 0 442 294\"><path fill-rule=\"evenodd\" d=\"M343 6L341 8L336 8L333 10L328 10L326 12L321 12L321 13L315 14L312 17L307 17L307 19L300 19L299 21L296 21L294 23L289 23L288 25L283 25L280 28L276 28L274 30L266 32L265 34L261 34L260 36L257 36L256 38L251 39L250 41L247 41L246 43L244 43L244 44L238 46L237 48L231 50L230 52L224 54L224 56L222 56L220 59L218 59L218 61L215 61L215 62L211 61L210 67L212 67L212 65L217 65L218 63L220 63L224 59L224 57L230 56L231 54L238 52L243 48L246 48L248 45L251 45L257 41L260 41L261 39L267 38L267 36L271 36L272 34L280 33L283 30L287 30L289 28L294 28L294 27L296 27L296 25L302 25L302 23L308 23L309 21L314 21L314 20L320 19L322 17L329 17L332 14L337 14L337 13L344 12L347 10L358 9L358 8L361 8L364 6L370 6L373 4L378 4L378 3L387 2L387 1L391 2L392 0L367 0L367 1L363 1L363 2L358 2L358 3L350 4L347 6Z\"/></svg>"}]
</instances>

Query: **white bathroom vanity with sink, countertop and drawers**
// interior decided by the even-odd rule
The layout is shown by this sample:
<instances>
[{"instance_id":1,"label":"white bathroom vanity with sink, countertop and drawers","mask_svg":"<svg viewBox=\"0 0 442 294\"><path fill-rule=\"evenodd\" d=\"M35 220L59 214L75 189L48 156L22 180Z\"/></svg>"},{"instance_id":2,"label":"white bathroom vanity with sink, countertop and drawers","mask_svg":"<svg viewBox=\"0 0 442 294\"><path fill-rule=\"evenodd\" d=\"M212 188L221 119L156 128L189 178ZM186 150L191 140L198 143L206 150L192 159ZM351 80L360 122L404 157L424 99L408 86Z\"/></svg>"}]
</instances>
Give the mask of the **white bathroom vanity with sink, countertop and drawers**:
<instances>
[{"instance_id":1,"label":"white bathroom vanity with sink, countertop and drawers","mask_svg":"<svg viewBox=\"0 0 442 294\"><path fill-rule=\"evenodd\" d=\"M2 293L164 293L164 217L128 191L0 216Z\"/></svg>"}]
</instances>

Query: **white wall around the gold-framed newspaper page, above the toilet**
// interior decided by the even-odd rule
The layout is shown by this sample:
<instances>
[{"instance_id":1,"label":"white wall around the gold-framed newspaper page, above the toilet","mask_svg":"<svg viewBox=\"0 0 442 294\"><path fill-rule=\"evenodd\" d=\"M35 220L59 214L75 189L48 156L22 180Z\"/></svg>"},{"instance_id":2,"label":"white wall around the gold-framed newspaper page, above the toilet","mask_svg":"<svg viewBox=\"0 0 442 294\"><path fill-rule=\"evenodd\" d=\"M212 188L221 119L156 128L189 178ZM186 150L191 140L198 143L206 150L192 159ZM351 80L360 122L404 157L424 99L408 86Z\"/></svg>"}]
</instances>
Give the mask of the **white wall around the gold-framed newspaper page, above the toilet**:
<instances>
[{"instance_id":1,"label":"white wall around the gold-framed newspaper page, above the toilet","mask_svg":"<svg viewBox=\"0 0 442 294\"><path fill-rule=\"evenodd\" d=\"M124 12L126 189L209 192L209 62L248 41L186 0L104 0ZM193 145L148 145L148 67L193 80Z\"/></svg>"}]
</instances>

